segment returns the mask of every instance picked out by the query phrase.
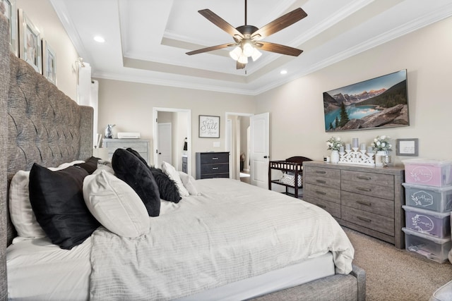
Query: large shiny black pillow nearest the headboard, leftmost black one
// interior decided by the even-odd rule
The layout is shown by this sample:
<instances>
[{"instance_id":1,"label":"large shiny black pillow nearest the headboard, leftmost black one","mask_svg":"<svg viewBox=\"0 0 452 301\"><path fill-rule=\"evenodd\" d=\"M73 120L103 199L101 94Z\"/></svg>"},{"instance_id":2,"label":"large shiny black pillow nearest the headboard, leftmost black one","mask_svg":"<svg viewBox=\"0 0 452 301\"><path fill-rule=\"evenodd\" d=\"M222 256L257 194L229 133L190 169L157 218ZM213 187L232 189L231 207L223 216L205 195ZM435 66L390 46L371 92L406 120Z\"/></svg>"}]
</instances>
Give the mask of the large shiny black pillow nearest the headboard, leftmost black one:
<instances>
[{"instance_id":1,"label":"large shiny black pillow nearest the headboard, leftmost black one","mask_svg":"<svg viewBox=\"0 0 452 301\"><path fill-rule=\"evenodd\" d=\"M30 203L42 230L62 249L80 245L100 223L83 199L85 169L69 166L60 171L33 164L30 171Z\"/></svg>"}]
</instances>

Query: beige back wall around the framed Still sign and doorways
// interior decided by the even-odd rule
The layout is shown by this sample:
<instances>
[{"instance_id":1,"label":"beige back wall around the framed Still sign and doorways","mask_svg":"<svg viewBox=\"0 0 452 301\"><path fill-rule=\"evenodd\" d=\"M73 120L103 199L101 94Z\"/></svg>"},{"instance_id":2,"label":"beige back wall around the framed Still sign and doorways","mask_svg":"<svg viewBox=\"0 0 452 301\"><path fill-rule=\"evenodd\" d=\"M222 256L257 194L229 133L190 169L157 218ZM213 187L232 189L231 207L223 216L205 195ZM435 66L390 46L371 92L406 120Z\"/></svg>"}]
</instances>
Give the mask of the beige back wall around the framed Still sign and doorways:
<instances>
[{"instance_id":1,"label":"beige back wall around the framed Still sign and doorways","mask_svg":"<svg viewBox=\"0 0 452 301\"><path fill-rule=\"evenodd\" d=\"M254 97L220 92L146 85L117 80L99 80L99 132L109 123L117 132L140 132L153 139L153 107L191 109L191 171L195 153L225 150L225 112L254 113ZM220 138L198 137L198 116L220 116ZM213 147L220 142L220 147ZM151 156L151 164L153 158Z\"/></svg>"}]
</instances>

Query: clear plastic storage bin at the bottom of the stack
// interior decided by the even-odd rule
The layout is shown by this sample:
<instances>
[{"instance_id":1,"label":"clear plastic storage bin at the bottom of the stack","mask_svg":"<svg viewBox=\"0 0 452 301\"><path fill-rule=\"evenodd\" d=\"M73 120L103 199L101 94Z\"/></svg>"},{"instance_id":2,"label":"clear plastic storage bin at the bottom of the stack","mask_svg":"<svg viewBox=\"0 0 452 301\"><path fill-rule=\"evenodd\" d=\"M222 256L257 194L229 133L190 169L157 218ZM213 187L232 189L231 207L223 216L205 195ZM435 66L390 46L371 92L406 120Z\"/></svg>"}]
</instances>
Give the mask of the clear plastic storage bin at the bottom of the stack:
<instances>
[{"instance_id":1,"label":"clear plastic storage bin at the bottom of the stack","mask_svg":"<svg viewBox=\"0 0 452 301\"><path fill-rule=\"evenodd\" d=\"M451 250L451 238L435 238L433 236L402 228L405 232L405 249L424 255L435 262L443 263L448 260Z\"/></svg>"}]
</instances>

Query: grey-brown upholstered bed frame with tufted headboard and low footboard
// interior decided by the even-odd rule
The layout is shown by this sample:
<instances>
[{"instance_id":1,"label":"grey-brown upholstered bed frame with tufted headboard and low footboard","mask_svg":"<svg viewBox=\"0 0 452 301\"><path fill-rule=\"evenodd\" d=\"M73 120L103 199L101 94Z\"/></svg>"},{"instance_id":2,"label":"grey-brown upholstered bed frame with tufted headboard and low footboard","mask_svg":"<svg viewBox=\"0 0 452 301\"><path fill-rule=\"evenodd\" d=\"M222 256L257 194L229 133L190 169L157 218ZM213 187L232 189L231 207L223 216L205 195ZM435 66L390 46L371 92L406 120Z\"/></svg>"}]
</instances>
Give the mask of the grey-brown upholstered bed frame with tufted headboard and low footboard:
<instances>
[{"instance_id":1,"label":"grey-brown upholstered bed frame with tufted headboard and low footboard","mask_svg":"<svg viewBox=\"0 0 452 301\"><path fill-rule=\"evenodd\" d=\"M93 108L79 106L9 47L8 21L0 16L0 300L7 300L6 247L16 236L8 215L8 186L34 162L59 166L93 152ZM258 300L365 300L365 273L333 275Z\"/></svg>"}]
</instances>

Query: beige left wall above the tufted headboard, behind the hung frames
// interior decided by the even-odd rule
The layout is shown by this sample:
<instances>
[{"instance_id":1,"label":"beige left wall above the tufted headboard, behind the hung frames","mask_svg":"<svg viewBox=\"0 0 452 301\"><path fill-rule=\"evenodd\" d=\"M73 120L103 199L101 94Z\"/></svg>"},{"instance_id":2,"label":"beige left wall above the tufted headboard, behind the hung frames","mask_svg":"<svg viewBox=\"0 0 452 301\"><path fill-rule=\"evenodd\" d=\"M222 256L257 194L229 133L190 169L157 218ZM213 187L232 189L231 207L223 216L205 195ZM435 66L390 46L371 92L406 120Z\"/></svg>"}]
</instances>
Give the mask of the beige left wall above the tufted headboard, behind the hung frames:
<instances>
[{"instance_id":1,"label":"beige left wall above the tufted headboard, behind the hung frames","mask_svg":"<svg viewBox=\"0 0 452 301\"><path fill-rule=\"evenodd\" d=\"M57 66L57 87L72 99L77 99L77 73L74 69L78 53L66 34L57 13L49 1L16 0L26 16L40 30L41 37L54 49Z\"/></svg>"}]
</instances>

